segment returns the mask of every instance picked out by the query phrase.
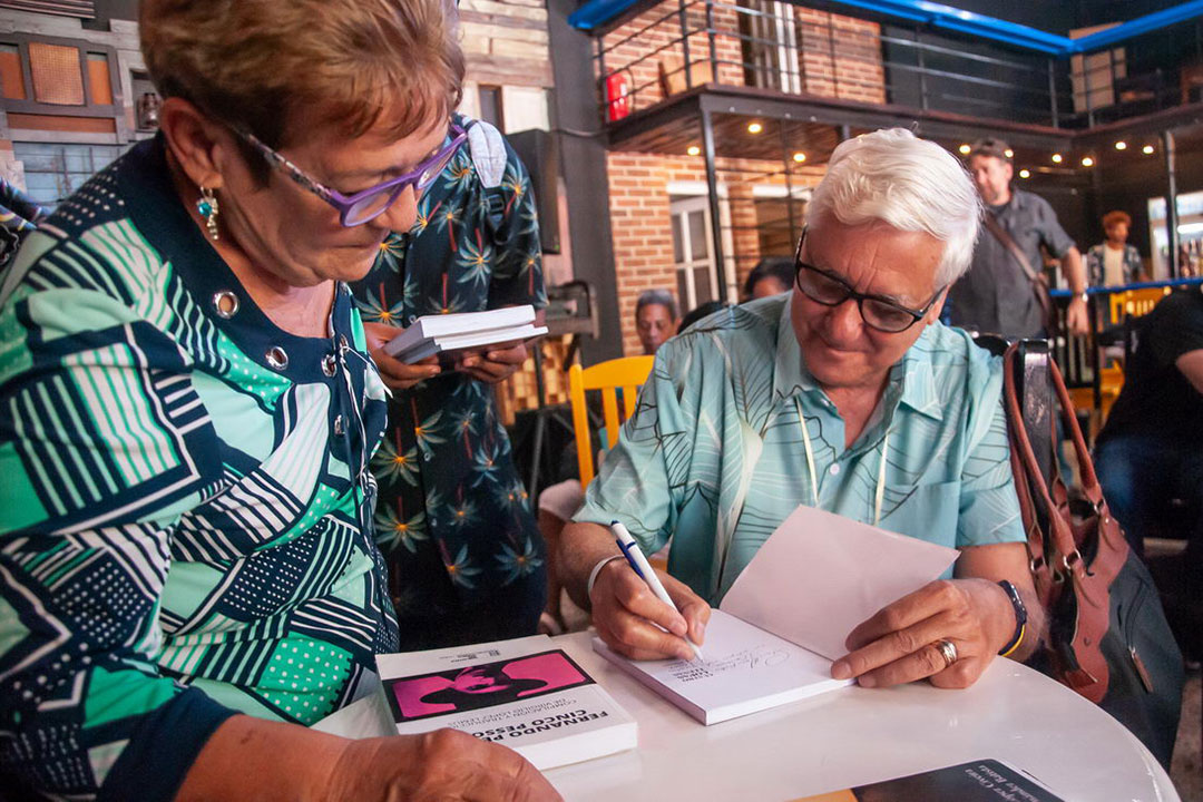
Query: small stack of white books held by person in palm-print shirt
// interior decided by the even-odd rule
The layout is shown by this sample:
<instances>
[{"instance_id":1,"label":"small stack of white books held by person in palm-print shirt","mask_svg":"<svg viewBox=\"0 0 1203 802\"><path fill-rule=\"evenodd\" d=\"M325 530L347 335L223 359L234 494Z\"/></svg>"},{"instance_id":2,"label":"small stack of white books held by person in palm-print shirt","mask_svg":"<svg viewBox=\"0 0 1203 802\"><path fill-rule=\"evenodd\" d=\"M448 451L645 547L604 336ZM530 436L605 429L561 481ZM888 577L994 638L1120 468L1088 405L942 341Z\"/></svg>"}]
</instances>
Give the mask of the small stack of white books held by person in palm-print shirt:
<instances>
[{"instance_id":1,"label":"small stack of white books held by person in palm-print shirt","mask_svg":"<svg viewBox=\"0 0 1203 802\"><path fill-rule=\"evenodd\" d=\"M389 340L385 354L413 364L428 356L509 346L547 333L534 325L534 307L423 315Z\"/></svg>"}]
</instances>

